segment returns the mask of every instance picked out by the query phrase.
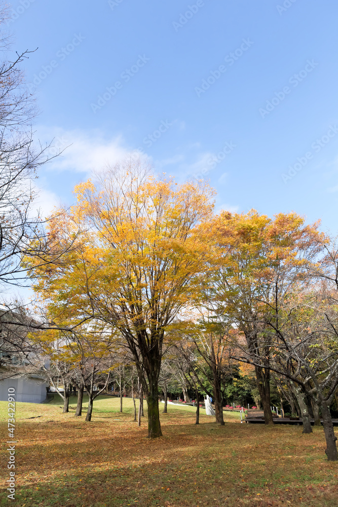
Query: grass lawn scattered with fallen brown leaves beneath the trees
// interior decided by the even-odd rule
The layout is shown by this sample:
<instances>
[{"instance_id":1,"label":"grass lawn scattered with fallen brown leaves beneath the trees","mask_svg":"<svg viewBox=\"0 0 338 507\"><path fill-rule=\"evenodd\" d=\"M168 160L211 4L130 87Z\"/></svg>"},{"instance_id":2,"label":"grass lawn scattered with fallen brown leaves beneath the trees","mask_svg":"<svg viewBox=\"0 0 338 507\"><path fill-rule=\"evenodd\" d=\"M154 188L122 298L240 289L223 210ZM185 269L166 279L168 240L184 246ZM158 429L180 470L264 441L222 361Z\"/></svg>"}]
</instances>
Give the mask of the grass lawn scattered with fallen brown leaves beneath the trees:
<instances>
[{"instance_id":1,"label":"grass lawn scattered with fallen brown leaves beneath the trees","mask_svg":"<svg viewBox=\"0 0 338 507\"><path fill-rule=\"evenodd\" d=\"M16 404L15 505L338 506L338 463L326 461L321 428L302 435L299 426L240 424L229 412L220 427L202 409L196 426L194 408L168 405L163 438L150 441L146 417L138 428L132 401L123 402L120 414L119 399L100 396L87 423L85 414L74 417L74 397L69 414L57 395L49 404ZM4 442L7 402L0 416ZM0 505L9 504L6 449Z\"/></svg>"}]
</instances>

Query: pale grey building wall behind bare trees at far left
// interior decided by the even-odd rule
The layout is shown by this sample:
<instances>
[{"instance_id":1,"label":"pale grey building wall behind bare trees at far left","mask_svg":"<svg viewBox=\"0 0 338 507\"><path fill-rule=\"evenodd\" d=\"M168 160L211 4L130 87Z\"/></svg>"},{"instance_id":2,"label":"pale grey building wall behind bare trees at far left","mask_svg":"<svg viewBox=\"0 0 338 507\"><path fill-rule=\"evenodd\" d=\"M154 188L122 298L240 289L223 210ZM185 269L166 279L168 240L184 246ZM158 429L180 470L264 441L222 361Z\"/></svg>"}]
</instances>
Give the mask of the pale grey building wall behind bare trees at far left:
<instances>
[{"instance_id":1,"label":"pale grey building wall behind bare trees at far left","mask_svg":"<svg viewBox=\"0 0 338 507\"><path fill-rule=\"evenodd\" d=\"M46 400L48 384L40 379L5 379L0 382L0 400L8 400L8 388L15 388L15 400L26 403L42 403Z\"/></svg>"}]
</instances>

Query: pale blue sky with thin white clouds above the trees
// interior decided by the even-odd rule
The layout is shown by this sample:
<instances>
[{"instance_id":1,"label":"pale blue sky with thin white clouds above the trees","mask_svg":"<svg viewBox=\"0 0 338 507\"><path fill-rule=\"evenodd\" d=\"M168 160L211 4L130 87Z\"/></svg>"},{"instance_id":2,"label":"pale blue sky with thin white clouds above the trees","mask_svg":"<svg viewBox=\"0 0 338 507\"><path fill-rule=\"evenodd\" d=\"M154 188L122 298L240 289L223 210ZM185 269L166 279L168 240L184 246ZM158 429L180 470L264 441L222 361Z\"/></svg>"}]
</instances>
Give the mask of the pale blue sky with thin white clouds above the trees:
<instances>
[{"instance_id":1,"label":"pale blue sky with thin white clouds above the trees","mask_svg":"<svg viewBox=\"0 0 338 507\"><path fill-rule=\"evenodd\" d=\"M21 0L8 28L40 115L71 144L38 185L46 213L142 149L216 188L216 210L296 211L337 231L336 0Z\"/></svg>"}]
</instances>

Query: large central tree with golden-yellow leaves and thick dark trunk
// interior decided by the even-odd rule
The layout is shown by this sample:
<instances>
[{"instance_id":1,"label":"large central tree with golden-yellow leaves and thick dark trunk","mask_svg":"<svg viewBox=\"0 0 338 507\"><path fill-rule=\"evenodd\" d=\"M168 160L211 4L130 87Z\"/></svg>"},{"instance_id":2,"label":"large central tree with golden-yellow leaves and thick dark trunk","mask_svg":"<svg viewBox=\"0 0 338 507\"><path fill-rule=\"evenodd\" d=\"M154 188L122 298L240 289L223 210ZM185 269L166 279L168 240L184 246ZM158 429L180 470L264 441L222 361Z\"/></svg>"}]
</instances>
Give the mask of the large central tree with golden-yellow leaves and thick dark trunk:
<instances>
[{"instance_id":1,"label":"large central tree with golden-yellow leaves and thick dark trunk","mask_svg":"<svg viewBox=\"0 0 338 507\"><path fill-rule=\"evenodd\" d=\"M163 346L206 269L214 191L204 182L156 179L130 160L107 169L95 185L77 186L75 194L77 204L60 214L59 230L71 237L80 228L78 248L48 272L39 268L36 291L49 300L56 322L71 313L119 332L146 394L148 436L160 437Z\"/></svg>"}]
</instances>

